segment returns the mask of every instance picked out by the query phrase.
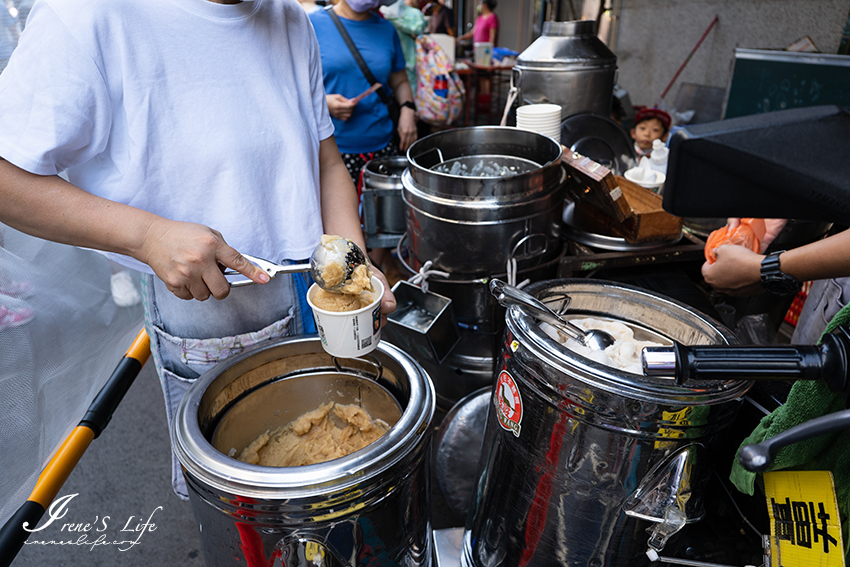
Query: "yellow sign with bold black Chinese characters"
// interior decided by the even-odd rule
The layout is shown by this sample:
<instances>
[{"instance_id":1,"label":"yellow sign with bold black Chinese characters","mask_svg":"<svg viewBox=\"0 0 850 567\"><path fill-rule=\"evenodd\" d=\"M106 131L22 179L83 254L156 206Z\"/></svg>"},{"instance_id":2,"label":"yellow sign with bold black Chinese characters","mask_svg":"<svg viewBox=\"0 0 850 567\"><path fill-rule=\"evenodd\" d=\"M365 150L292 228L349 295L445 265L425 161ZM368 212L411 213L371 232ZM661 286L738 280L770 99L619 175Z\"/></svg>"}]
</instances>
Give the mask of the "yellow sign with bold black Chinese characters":
<instances>
[{"instance_id":1,"label":"yellow sign with bold black Chinese characters","mask_svg":"<svg viewBox=\"0 0 850 567\"><path fill-rule=\"evenodd\" d=\"M771 567L844 567L831 472L764 473L764 491Z\"/></svg>"}]
</instances>

